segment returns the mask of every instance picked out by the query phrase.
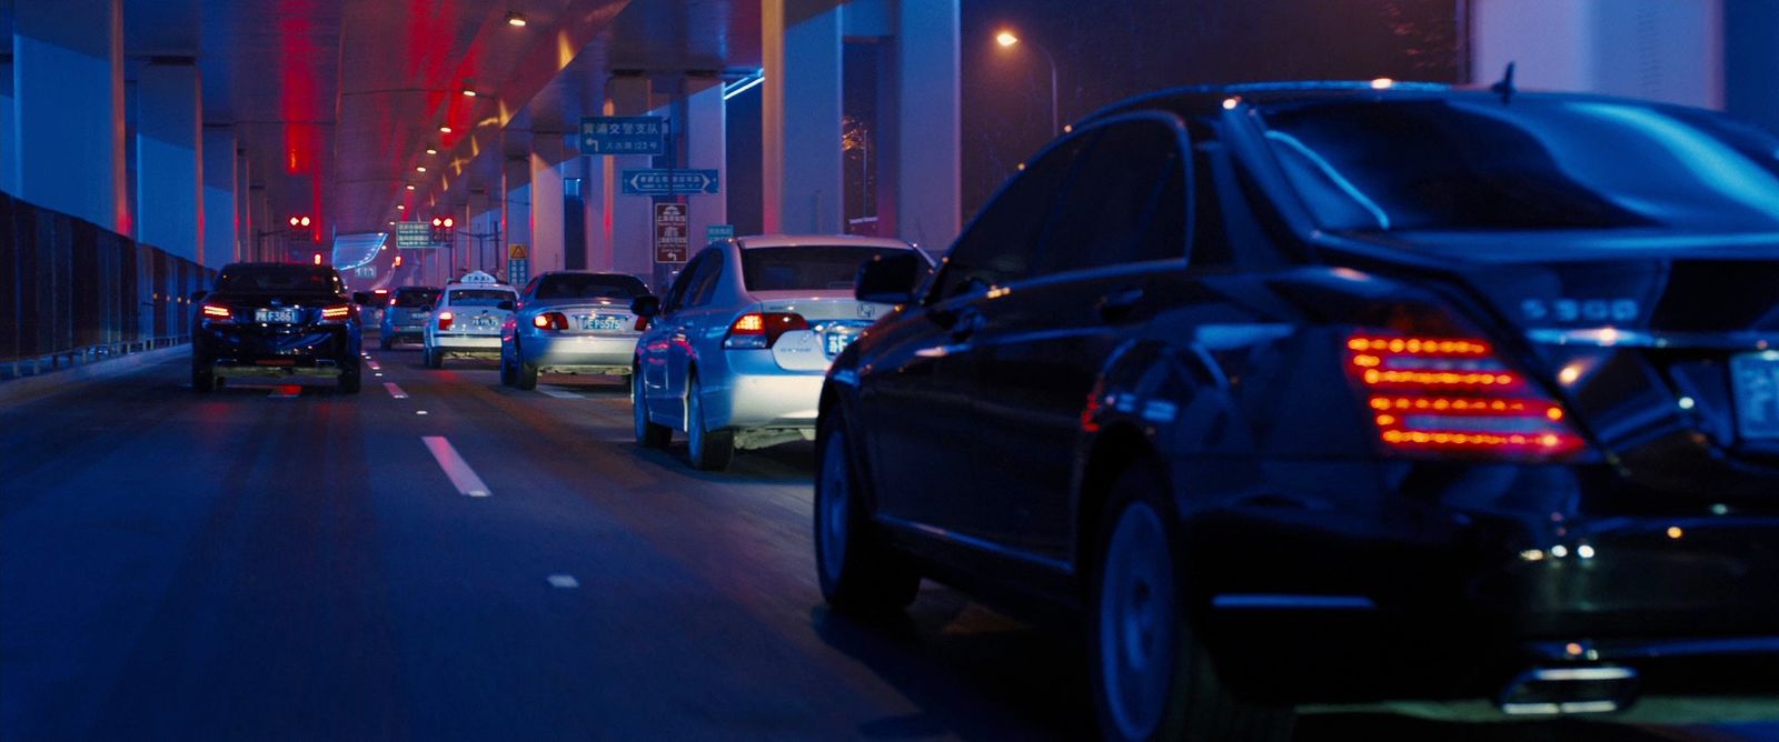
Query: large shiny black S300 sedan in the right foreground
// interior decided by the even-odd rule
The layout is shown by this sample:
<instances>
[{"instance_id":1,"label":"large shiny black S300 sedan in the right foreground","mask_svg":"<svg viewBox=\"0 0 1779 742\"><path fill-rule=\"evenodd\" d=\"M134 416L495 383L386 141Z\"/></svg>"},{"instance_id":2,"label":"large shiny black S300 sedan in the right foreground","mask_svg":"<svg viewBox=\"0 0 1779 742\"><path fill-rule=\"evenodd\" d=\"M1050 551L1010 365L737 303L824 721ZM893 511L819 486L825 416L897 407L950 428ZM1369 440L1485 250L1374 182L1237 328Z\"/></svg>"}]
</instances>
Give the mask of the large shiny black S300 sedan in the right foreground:
<instances>
[{"instance_id":1,"label":"large shiny black S300 sedan in the right foreground","mask_svg":"<svg viewBox=\"0 0 1779 742\"><path fill-rule=\"evenodd\" d=\"M932 577L1076 616L1117 740L1772 676L1722 667L1779 651L1779 140L1510 85L1236 85L1019 170L932 275L859 273L900 307L822 392L836 609Z\"/></svg>"}]
</instances>

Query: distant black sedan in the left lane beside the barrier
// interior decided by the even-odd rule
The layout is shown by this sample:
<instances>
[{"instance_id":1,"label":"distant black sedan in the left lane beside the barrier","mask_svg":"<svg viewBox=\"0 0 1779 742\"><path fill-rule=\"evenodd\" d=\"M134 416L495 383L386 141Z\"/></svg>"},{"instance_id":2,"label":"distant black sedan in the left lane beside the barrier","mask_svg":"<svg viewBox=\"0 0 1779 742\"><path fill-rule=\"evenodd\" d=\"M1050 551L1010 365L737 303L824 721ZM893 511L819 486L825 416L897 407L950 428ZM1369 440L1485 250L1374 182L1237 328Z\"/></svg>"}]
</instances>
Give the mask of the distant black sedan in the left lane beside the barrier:
<instances>
[{"instance_id":1,"label":"distant black sedan in the left lane beside the barrier","mask_svg":"<svg viewBox=\"0 0 1779 742\"><path fill-rule=\"evenodd\" d=\"M231 263L192 295L192 389L235 376L326 376L358 394L358 305L329 266Z\"/></svg>"}]
</instances>

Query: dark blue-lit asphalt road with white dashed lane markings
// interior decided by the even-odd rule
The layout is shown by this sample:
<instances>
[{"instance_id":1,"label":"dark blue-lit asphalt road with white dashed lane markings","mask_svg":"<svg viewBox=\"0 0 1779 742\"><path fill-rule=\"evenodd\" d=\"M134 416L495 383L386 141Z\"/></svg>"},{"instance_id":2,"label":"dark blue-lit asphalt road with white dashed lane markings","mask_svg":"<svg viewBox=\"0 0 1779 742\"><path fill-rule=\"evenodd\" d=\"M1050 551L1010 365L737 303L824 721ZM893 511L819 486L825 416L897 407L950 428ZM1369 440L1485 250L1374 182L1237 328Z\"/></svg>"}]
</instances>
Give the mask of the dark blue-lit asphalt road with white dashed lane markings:
<instances>
[{"instance_id":1,"label":"dark blue-lit asphalt road with white dashed lane markings","mask_svg":"<svg viewBox=\"0 0 1779 742\"><path fill-rule=\"evenodd\" d=\"M1087 737L1066 632L934 584L884 625L822 607L809 446L701 474L632 444L623 383L372 357L359 396L194 396L178 359L0 408L0 740ZM1343 714L1299 738L1779 728Z\"/></svg>"}]
</instances>

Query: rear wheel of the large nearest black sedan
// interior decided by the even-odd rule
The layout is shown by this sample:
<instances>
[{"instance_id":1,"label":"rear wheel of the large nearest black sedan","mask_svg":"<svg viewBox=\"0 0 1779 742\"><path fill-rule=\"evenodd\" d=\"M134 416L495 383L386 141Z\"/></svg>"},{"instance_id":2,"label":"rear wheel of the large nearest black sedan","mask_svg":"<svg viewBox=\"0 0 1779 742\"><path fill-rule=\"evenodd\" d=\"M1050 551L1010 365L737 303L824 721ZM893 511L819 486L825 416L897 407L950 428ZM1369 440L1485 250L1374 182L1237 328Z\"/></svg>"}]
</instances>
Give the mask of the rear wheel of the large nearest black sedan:
<instances>
[{"instance_id":1,"label":"rear wheel of the large nearest black sedan","mask_svg":"<svg viewBox=\"0 0 1779 742\"><path fill-rule=\"evenodd\" d=\"M1236 698L1192 630L1178 533L1163 478L1142 463L1126 469L1099 518L1089 572L1099 738L1290 740L1293 710Z\"/></svg>"}]
</instances>

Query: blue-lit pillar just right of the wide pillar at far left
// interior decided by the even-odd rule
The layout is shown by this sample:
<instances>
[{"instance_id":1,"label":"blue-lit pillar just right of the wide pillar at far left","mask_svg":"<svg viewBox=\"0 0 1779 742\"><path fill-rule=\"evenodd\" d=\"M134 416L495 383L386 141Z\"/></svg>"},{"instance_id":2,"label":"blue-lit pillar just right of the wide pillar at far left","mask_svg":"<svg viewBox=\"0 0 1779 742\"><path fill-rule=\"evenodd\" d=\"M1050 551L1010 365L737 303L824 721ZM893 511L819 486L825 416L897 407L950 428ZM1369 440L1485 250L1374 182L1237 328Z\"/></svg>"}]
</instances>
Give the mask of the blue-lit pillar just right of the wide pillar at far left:
<instances>
[{"instance_id":1,"label":"blue-lit pillar just right of the wide pillar at far left","mask_svg":"<svg viewBox=\"0 0 1779 742\"><path fill-rule=\"evenodd\" d=\"M135 91L139 240L205 263L203 94L197 66L149 64L139 73Z\"/></svg>"}]
</instances>

